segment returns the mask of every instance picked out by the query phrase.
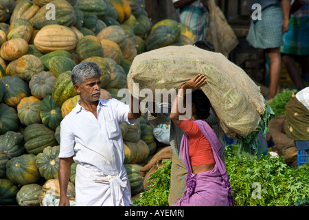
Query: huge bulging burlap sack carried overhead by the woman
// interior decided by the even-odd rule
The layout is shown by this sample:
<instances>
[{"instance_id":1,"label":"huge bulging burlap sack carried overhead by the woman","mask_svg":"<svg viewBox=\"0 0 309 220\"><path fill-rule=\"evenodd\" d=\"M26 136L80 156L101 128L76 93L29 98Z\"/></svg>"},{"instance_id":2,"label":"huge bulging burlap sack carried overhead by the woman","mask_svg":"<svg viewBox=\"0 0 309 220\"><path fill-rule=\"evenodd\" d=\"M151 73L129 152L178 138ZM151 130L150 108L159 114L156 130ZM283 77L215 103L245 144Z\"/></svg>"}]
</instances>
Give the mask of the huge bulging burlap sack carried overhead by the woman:
<instances>
[{"instance_id":1,"label":"huge bulging burlap sack carried overhead by the woman","mask_svg":"<svg viewBox=\"0 0 309 220\"><path fill-rule=\"evenodd\" d=\"M196 74L207 76L207 83L201 89L229 137L237 138L236 133L247 135L255 130L265 111L260 87L220 53L185 45L139 54L128 73L128 89L139 100L158 101L156 98L161 94L161 98L171 97L170 89L179 89ZM146 90L142 89L150 89L152 96L143 94Z\"/></svg>"}]
</instances>

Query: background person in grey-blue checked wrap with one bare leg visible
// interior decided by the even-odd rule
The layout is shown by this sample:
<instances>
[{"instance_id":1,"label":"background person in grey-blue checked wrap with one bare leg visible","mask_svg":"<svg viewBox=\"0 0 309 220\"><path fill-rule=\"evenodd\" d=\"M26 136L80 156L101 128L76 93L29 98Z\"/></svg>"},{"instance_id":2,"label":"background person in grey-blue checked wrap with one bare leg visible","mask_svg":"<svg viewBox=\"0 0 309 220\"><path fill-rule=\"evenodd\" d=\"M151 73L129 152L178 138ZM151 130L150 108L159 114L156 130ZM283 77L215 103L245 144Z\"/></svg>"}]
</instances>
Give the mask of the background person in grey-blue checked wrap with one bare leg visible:
<instances>
[{"instance_id":1,"label":"background person in grey-blue checked wrap with one bare leg visible","mask_svg":"<svg viewBox=\"0 0 309 220\"><path fill-rule=\"evenodd\" d=\"M251 20L247 41L255 48L266 50L270 61L270 84L265 99L271 100L279 93L280 46L284 44L282 34L288 32L290 0L251 0L251 9L255 3L262 7L262 19Z\"/></svg>"}]
</instances>

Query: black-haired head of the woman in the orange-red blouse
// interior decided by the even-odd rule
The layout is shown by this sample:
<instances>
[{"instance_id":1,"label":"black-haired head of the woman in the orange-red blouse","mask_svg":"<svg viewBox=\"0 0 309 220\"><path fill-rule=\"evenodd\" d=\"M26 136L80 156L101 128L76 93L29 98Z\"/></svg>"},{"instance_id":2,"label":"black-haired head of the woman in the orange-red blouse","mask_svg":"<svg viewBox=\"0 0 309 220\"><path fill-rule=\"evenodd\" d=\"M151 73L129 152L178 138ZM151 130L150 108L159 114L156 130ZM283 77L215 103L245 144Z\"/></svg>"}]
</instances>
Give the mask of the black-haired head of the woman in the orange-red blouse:
<instances>
[{"instance_id":1,"label":"black-haired head of the woman in the orange-red blouse","mask_svg":"<svg viewBox=\"0 0 309 220\"><path fill-rule=\"evenodd\" d=\"M201 120L208 118L211 104L204 92L200 89L192 91L191 99L194 118Z\"/></svg>"}]
</instances>

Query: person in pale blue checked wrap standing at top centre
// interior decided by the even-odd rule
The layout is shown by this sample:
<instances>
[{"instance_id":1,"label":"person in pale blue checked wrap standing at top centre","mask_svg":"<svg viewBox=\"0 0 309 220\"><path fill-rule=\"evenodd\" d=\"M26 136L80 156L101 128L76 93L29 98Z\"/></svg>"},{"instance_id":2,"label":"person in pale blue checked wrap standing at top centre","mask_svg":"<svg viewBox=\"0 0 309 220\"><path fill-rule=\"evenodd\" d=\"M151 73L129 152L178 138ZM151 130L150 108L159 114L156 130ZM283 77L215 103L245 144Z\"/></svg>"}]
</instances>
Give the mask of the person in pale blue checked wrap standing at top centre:
<instances>
[{"instance_id":1,"label":"person in pale blue checked wrap standing at top centre","mask_svg":"<svg viewBox=\"0 0 309 220\"><path fill-rule=\"evenodd\" d=\"M196 41L206 40L209 25L209 12L205 0L173 0L174 7L179 8L181 23L192 28Z\"/></svg>"}]
</instances>

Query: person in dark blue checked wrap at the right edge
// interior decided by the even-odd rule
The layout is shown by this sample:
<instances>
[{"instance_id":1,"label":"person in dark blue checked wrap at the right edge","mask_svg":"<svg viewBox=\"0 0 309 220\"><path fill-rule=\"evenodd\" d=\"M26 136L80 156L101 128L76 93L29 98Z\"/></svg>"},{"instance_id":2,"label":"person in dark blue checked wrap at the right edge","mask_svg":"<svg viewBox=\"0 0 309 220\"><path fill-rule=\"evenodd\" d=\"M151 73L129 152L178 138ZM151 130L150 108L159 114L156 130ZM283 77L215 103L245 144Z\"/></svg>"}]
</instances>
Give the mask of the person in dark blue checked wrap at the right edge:
<instances>
[{"instance_id":1,"label":"person in dark blue checked wrap at the right edge","mask_svg":"<svg viewBox=\"0 0 309 220\"><path fill-rule=\"evenodd\" d=\"M284 34L284 45L280 51L288 74L300 91L304 89L302 77L309 80L309 0L291 3L288 32ZM301 63L301 74L295 59Z\"/></svg>"}]
</instances>

